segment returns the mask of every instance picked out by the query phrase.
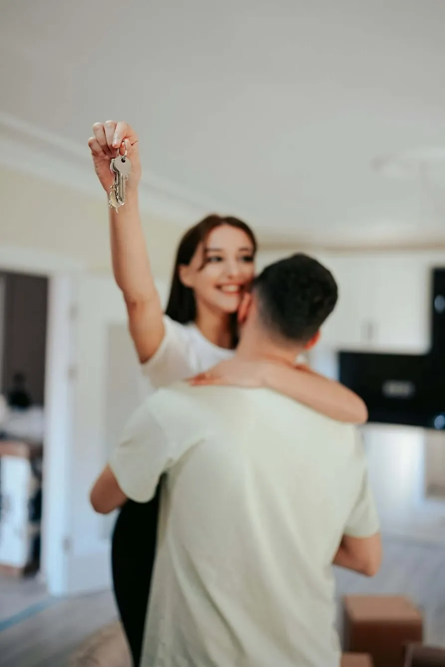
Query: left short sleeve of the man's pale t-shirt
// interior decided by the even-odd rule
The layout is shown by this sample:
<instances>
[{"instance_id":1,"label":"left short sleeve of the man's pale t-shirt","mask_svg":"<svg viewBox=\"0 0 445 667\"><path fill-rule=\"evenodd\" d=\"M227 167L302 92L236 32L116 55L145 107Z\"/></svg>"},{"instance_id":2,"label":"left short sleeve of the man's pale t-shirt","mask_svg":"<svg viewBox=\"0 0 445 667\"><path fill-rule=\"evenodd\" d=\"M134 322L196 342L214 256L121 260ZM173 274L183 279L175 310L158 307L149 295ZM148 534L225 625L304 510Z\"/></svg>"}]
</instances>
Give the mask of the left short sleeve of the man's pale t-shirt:
<instances>
[{"instance_id":1,"label":"left short sleeve of the man's pale t-shirt","mask_svg":"<svg viewBox=\"0 0 445 667\"><path fill-rule=\"evenodd\" d=\"M109 466L125 496L135 502L147 502L155 495L159 478L170 464L171 447L165 430L153 415L149 397L129 420Z\"/></svg>"}]
</instances>

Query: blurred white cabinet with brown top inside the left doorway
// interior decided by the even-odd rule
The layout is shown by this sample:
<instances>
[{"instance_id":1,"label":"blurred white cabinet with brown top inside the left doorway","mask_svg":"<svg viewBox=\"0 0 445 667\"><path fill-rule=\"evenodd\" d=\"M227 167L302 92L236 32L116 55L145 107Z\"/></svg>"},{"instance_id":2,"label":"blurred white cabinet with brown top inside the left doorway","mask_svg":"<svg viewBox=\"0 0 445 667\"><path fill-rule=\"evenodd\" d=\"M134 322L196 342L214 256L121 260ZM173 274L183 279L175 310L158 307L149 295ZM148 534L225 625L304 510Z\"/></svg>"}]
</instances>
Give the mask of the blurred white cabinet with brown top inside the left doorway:
<instances>
[{"instance_id":1,"label":"blurred white cabinet with brown top inside the left doorway","mask_svg":"<svg viewBox=\"0 0 445 667\"><path fill-rule=\"evenodd\" d=\"M39 567L42 446L0 440L0 573Z\"/></svg>"}]
</instances>

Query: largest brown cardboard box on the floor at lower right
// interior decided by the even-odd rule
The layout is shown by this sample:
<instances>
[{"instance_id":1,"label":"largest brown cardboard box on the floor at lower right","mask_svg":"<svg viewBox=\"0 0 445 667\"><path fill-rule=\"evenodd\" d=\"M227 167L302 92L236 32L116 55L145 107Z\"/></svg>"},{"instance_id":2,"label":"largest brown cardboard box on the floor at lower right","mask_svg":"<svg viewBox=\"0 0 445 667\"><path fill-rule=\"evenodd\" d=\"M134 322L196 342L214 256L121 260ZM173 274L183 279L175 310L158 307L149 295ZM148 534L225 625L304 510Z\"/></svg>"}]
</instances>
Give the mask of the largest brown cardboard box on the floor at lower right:
<instances>
[{"instance_id":1,"label":"largest brown cardboard box on the floor at lower right","mask_svg":"<svg viewBox=\"0 0 445 667\"><path fill-rule=\"evenodd\" d=\"M406 644L422 642L420 612L402 596L346 596L345 652L368 653L374 667L404 667Z\"/></svg>"}]
</instances>

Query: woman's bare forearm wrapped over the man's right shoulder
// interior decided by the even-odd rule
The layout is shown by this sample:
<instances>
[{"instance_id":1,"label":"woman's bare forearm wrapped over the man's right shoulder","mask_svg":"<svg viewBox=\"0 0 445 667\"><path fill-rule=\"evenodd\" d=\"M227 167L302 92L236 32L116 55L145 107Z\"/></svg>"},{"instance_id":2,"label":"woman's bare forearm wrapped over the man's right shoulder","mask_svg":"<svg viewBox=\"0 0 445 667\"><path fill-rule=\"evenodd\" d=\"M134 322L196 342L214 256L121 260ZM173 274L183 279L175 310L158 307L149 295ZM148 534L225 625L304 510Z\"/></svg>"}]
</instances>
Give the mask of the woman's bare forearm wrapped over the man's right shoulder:
<instances>
[{"instance_id":1,"label":"woman's bare forearm wrapped over the man's right shoulder","mask_svg":"<svg viewBox=\"0 0 445 667\"><path fill-rule=\"evenodd\" d=\"M338 422L364 424L368 420L368 410L360 396L339 382L306 368L271 364L264 384Z\"/></svg>"}]
</instances>

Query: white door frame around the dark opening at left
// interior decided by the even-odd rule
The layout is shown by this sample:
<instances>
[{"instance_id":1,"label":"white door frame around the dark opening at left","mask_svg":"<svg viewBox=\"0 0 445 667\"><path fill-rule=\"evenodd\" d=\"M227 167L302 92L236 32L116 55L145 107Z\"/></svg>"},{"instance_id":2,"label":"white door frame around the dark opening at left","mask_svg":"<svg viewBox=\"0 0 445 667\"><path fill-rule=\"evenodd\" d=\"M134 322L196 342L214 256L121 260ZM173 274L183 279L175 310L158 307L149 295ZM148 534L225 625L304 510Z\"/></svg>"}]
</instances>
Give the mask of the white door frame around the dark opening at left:
<instances>
[{"instance_id":1,"label":"white door frame around the dark opening at left","mask_svg":"<svg viewBox=\"0 0 445 667\"><path fill-rule=\"evenodd\" d=\"M37 249L3 245L0 270L43 275L48 279L45 351L45 426L40 576L50 595L68 592L69 516L66 480L71 437L71 285L86 272L83 261Z\"/></svg>"}]
</instances>

